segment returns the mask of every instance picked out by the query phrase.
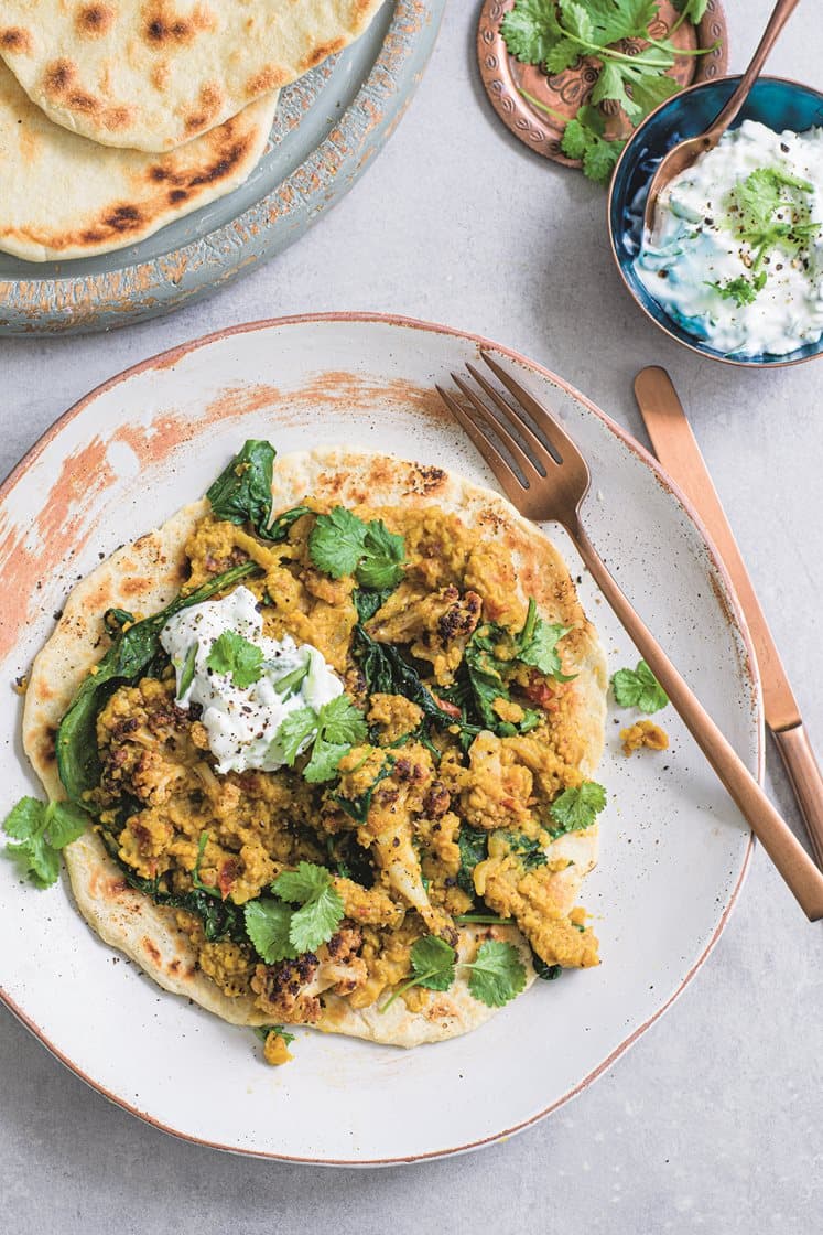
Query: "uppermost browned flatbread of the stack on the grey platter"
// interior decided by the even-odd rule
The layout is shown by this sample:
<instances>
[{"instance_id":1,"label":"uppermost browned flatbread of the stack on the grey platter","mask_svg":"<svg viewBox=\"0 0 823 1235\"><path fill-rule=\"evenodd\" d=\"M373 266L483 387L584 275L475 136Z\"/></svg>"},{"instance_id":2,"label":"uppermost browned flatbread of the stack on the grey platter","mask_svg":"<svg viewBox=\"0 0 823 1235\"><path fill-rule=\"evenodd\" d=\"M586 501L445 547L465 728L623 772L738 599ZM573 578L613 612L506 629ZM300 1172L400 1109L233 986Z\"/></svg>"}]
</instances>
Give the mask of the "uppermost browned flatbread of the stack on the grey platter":
<instances>
[{"instance_id":1,"label":"uppermost browned flatbread of the stack on the grey platter","mask_svg":"<svg viewBox=\"0 0 823 1235\"><path fill-rule=\"evenodd\" d=\"M294 82L383 0L4 0L0 56L56 124L169 151Z\"/></svg>"}]
</instances>

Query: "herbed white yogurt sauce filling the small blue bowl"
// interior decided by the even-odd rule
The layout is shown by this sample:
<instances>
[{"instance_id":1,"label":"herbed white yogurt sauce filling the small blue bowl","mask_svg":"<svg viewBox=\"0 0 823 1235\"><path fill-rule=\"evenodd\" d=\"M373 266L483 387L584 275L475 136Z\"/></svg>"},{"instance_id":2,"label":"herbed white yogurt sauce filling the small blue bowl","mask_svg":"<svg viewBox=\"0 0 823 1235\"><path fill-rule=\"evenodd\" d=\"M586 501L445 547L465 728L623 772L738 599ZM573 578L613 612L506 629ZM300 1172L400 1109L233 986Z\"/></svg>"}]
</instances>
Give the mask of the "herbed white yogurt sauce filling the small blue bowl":
<instances>
[{"instance_id":1,"label":"herbed white yogurt sauce filling the small blue bowl","mask_svg":"<svg viewBox=\"0 0 823 1235\"><path fill-rule=\"evenodd\" d=\"M774 236L775 226L801 225L765 246L740 235L756 226L737 196L764 170L781 199L766 228ZM823 333L821 225L823 128L775 133L745 120L671 182L634 272L670 317L717 351L785 356Z\"/></svg>"}]
</instances>

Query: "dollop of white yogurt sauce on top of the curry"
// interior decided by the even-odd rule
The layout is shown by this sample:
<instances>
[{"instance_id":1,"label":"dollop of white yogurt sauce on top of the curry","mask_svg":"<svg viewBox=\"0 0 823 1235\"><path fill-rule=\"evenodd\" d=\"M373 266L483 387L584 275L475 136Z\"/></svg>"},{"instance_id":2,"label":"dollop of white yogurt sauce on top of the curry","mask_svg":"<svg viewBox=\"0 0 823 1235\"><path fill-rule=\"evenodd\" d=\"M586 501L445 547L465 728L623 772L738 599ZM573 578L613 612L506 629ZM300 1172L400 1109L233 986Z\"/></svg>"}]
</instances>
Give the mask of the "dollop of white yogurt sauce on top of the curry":
<instances>
[{"instance_id":1,"label":"dollop of white yogurt sauce on top of the curry","mask_svg":"<svg viewBox=\"0 0 823 1235\"><path fill-rule=\"evenodd\" d=\"M318 711L343 694L341 679L316 647L297 647L287 635L280 640L264 636L257 604L253 593L241 585L225 600L183 609L169 618L160 634L160 643L176 671L178 704L202 708L200 720L210 750L220 761L220 773L246 768L276 772L285 763L278 732L289 713L300 708ZM226 631L242 635L263 652L262 677L249 687L234 685L231 673L220 673L206 663ZM304 745L308 741L311 736Z\"/></svg>"}]
</instances>

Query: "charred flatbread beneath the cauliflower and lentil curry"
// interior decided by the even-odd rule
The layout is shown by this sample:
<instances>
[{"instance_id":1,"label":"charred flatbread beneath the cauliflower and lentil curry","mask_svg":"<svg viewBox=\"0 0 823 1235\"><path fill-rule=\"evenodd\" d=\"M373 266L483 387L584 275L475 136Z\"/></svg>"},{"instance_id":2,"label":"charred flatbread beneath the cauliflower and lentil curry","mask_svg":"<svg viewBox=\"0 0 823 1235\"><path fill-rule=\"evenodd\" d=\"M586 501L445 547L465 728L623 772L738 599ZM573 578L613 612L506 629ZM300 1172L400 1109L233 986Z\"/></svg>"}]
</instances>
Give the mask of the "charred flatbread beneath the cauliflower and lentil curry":
<instances>
[{"instance_id":1,"label":"charred flatbread beneath the cauliflower and lentil curry","mask_svg":"<svg viewBox=\"0 0 823 1235\"><path fill-rule=\"evenodd\" d=\"M459 514L464 522L482 530L485 537L500 541L516 566L524 595L534 597L548 620L577 627L575 726L585 746L581 772L593 773L603 746L607 688L603 651L558 550L505 499L440 468L339 448L279 458L273 494L275 514L299 504L306 494L318 501L349 506L366 501L436 505ZM80 683L106 646L104 611L114 606L148 615L167 605L185 580L186 538L207 510L205 499L179 510L157 531L117 550L68 598L63 616L33 663L23 714L26 753L51 798L64 797L54 735ZM554 903L561 914L568 914L584 877L596 862L597 826L560 836L547 852L550 860L564 857L574 863L554 876L552 887ZM250 1000L222 994L197 969L196 953L188 936L176 930L173 914L126 884L121 868L96 834L85 834L64 853L78 906L107 944L131 956L167 990L184 994L228 1021L254 1025L270 1019L253 1009ZM460 955L473 955L478 942L486 937L505 939L517 946L531 984L534 979L531 952L515 927L464 926ZM470 995L460 976L450 990L423 992L422 999L418 1011L411 1011L397 999L386 1014L380 1014L374 1005L357 1010L345 999L325 997L317 1028L375 1042L416 1046L468 1032L494 1013Z\"/></svg>"}]
</instances>

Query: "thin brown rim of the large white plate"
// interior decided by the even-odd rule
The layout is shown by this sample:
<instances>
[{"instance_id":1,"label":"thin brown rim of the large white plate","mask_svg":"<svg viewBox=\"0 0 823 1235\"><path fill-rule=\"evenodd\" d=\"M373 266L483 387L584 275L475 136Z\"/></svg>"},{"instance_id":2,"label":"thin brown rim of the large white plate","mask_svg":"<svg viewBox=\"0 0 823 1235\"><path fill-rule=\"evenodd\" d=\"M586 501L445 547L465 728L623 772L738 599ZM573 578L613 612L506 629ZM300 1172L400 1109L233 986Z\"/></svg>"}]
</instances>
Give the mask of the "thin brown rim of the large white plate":
<instances>
[{"instance_id":1,"label":"thin brown rim of the large white plate","mask_svg":"<svg viewBox=\"0 0 823 1235\"><path fill-rule=\"evenodd\" d=\"M743 666L743 672L748 677L749 684L751 687L753 709L755 713L755 721L756 721L756 776L758 781L763 784L764 768L765 768L765 729L763 719L763 695L760 687L760 674L754 652L754 645L751 642L745 618L743 615L739 601L734 593L734 588L732 585L729 574L717 550L712 545L712 541L697 511L695 510L690 500L686 498L686 495L677 488L675 482L660 467L654 456L651 456L649 451L647 451L645 447L640 445L640 442L638 442L634 437L632 437L632 435L628 433L621 425L618 425L617 421L612 420L611 416L608 416L596 404L593 404L590 399L582 395L575 387L573 387L564 379L559 378L555 373L553 373L544 366L523 356L521 352L517 352L513 348L496 343L492 340L485 338L481 335L476 335L470 331L461 331L459 329L439 325L437 322L421 321L415 317L402 317L392 314L374 314L374 312L296 314L285 317L264 319L260 321L246 322L237 326L228 326L223 330L215 331L200 338L195 338L186 343L178 345L176 347L173 347L165 352L159 352L155 356L152 356L144 361L141 361L137 364L131 366L127 369L123 369L121 373L117 373L112 378L109 378L106 382L102 382L100 385L95 387L91 391L89 391L80 400L73 404L72 408L69 408L65 412L63 412L63 415L59 416L58 420L56 420L54 424L49 429L47 429L46 432L37 440L37 442L31 447L31 450L26 452L20 463L17 463L15 468L12 468L6 479L0 484L0 503L4 503L9 498L16 483L23 477L23 474L28 471L31 464L38 458L41 452L52 442L52 440L62 432L62 430L65 427L67 424L69 424L69 421L74 420L80 412L84 411L86 406L94 403L97 398L100 398L112 388L120 385L121 383L127 382L130 378L137 374L146 373L152 369L162 371L169 368L174 366L175 362L181 359L183 357L186 357L201 348L209 347L211 343L216 343L220 342L221 340L230 338L233 335L252 333L254 331L280 329L291 325L306 326L320 322L365 322L373 325L376 324L383 326L399 327L401 330L411 329L411 330L418 330L421 332L444 335L459 338L463 342L468 342L478 348L494 350L500 354L507 357L508 359L518 364L522 364L527 371L531 371L536 374L539 374L540 377L549 379L554 385L556 385L564 393L570 395L573 399L579 400L579 403L582 404L587 411L598 417L606 425L606 427L613 433L613 436L617 437L633 454L635 454L642 463L645 464L645 467L653 473L660 487L675 499L675 501L682 508L685 514L689 516L691 522L696 526L697 532L700 534L701 538L705 542L709 562L712 567L717 571L719 578L724 584L726 594L723 595L721 603L726 608L729 622L735 629L735 632L739 635L745 652L745 663ZM659 1018L665 1011L668 1011L669 1008L671 1008L674 1002L682 994L685 988L689 986L689 983L695 977L697 971L705 963L708 955L713 950L714 945L719 940L729 920L732 909L740 894L740 889L743 888L748 872L750 869L754 844L755 844L754 835L749 834L737 881L728 894L727 904L718 919L714 931L708 939L703 951L700 953L700 956L692 963L691 968L682 977L677 988L655 1010L653 1015L648 1016L640 1025L634 1028L632 1032L613 1051L611 1051L611 1053L605 1060L602 1060L597 1065L597 1067L592 1068L585 1077L582 1077L582 1079L577 1084L569 1088L566 1093L564 1093L560 1098L554 1100L550 1105L548 1105L543 1110L529 1116L528 1119L521 1120L506 1129L496 1131L492 1135L484 1136L479 1140L468 1141L463 1145L455 1145L448 1149L440 1149L432 1152L422 1152L401 1157L379 1157L370 1160L316 1158L316 1157L306 1157L297 1155L267 1153L259 1150L247 1150L234 1145L225 1145L221 1144L220 1141L212 1141L205 1137L199 1137L190 1132L183 1132L179 1129L172 1128L162 1123L159 1119L155 1119L152 1115L148 1115L146 1112L142 1112L138 1108L131 1105L118 1094L111 1092L105 1086L102 1086L101 1083L94 1081L90 1076L88 1076L80 1067L78 1067L69 1057L67 1057L58 1047L56 1047L49 1041L43 1030L23 1011L23 1009L7 994L7 992L2 987L0 987L0 999L6 1004L9 1010L14 1013L15 1016L17 1016L17 1019L43 1044L43 1046L46 1046L46 1049L56 1058L58 1058L62 1063L64 1063L65 1067L68 1067L69 1071L72 1071L81 1081L85 1081L85 1083L90 1088L95 1089L97 1093L102 1094L102 1097L107 1098L115 1105L121 1107L123 1110L127 1110L130 1114L134 1115L143 1123L149 1124L153 1128L157 1128L159 1131L175 1136L179 1140L188 1141L194 1145L202 1145L206 1146L207 1149L216 1149L231 1153L237 1153L243 1157L257 1157L275 1162L290 1162L295 1165L307 1165L307 1166L359 1168L359 1167L376 1167L376 1166L399 1166L413 1162L431 1161L434 1158L452 1157L458 1153L466 1153L473 1150L481 1149L485 1145L498 1142L508 1136L515 1135L516 1132L522 1131L526 1128L532 1126L536 1123L539 1123L542 1119L545 1119L547 1115L550 1115L559 1107L563 1107L570 1099L582 1093L584 1089L586 1089L593 1081L597 1079L597 1077L600 1077L622 1055L624 1055L626 1051L629 1050L629 1047L632 1047L642 1037L642 1035L650 1028L650 1025L653 1025L656 1020L659 1020Z\"/></svg>"}]
</instances>

